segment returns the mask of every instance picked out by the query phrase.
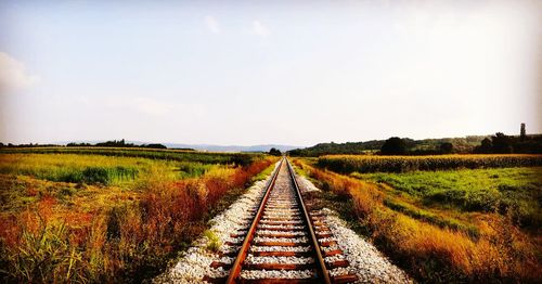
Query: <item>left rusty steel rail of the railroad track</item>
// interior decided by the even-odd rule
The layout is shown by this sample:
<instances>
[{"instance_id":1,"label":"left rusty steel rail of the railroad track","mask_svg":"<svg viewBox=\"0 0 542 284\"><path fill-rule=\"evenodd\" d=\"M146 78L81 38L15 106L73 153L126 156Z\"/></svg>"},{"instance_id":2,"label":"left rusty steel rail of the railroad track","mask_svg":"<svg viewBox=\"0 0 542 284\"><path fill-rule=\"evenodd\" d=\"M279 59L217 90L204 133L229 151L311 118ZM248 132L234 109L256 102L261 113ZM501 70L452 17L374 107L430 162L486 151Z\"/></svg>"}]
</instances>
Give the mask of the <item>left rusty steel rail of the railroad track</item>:
<instances>
[{"instance_id":1,"label":"left rusty steel rail of the railroad track","mask_svg":"<svg viewBox=\"0 0 542 284\"><path fill-rule=\"evenodd\" d=\"M235 262L233 262L233 266L230 270L230 275L228 276L228 280L225 283L235 283L235 280L241 274L241 269L243 266L243 261L245 261L246 255L248 254L248 248L250 247L250 242L253 242L254 235L256 233L256 228L258 227L258 222L261 219L261 216L263 215L263 209L266 207L266 204L269 199L269 195L271 193L271 190L274 188L274 183L276 181L276 177L279 177L279 172L281 171L282 164L284 163L285 157L281 159L281 164L279 164L279 167L276 167L276 170L273 175L273 178L271 179L271 182L268 184L266 189L266 194L263 195L263 198L261 198L260 206L258 208L258 212L253 219L253 223L250 224L250 229L248 229L248 232L245 236L245 241L243 241L243 245L241 246L237 257L235 258Z\"/></svg>"}]
</instances>

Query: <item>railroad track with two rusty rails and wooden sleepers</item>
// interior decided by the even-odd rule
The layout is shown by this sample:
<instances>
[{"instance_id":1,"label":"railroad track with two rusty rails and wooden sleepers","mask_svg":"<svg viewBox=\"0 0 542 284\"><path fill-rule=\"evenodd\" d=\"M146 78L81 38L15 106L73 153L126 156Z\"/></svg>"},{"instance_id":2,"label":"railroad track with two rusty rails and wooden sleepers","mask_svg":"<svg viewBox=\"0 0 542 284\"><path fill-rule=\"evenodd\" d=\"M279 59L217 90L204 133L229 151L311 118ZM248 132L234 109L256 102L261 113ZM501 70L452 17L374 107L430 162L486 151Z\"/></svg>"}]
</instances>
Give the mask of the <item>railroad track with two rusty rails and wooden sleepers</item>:
<instances>
[{"instance_id":1,"label":"railroad track with two rusty rails and wooden sleepers","mask_svg":"<svg viewBox=\"0 0 542 284\"><path fill-rule=\"evenodd\" d=\"M266 189L257 209L247 212L249 227L232 232L237 242L214 269L229 270L228 277L204 277L210 283L350 283L353 273L330 273L347 268L331 230L319 212L304 203L294 169L283 158ZM333 274L333 275L332 275Z\"/></svg>"}]
</instances>

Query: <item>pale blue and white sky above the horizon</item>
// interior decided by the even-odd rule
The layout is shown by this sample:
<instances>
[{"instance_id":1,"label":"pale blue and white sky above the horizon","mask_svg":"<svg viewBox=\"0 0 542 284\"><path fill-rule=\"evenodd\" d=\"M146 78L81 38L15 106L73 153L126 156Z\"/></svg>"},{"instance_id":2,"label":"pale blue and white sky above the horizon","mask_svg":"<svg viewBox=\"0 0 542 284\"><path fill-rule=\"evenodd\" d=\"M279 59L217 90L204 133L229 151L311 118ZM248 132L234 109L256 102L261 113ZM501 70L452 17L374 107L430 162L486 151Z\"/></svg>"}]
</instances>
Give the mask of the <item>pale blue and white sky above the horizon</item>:
<instances>
[{"instance_id":1,"label":"pale blue and white sky above the horizon","mask_svg":"<svg viewBox=\"0 0 542 284\"><path fill-rule=\"evenodd\" d=\"M542 1L0 0L0 142L542 133Z\"/></svg>"}]
</instances>

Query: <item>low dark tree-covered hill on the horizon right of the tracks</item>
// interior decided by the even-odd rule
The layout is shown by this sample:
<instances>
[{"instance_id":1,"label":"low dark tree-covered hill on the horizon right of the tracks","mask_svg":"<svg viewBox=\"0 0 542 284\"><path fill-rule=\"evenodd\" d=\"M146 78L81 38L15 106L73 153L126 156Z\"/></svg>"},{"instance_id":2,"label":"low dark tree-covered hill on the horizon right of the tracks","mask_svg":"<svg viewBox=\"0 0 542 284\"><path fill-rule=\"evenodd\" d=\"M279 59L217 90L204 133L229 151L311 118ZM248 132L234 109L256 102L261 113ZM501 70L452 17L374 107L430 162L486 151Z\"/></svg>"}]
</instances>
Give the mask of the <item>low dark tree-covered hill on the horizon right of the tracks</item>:
<instances>
[{"instance_id":1,"label":"low dark tree-covered hill on the horizon right of the tracks","mask_svg":"<svg viewBox=\"0 0 542 284\"><path fill-rule=\"evenodd\" d=\"M489 135L469 135L465 138L441 138L413 140L405 138L404 141L410 151L430 152L442 143L452 143L457 153L470 153L474 147ZM320 143L311 147L288 151L292 156L320 156L327 154L362 154L379 151L386 140L371 140L365 142L346 143Z\"/></svg>"}]
</instances>

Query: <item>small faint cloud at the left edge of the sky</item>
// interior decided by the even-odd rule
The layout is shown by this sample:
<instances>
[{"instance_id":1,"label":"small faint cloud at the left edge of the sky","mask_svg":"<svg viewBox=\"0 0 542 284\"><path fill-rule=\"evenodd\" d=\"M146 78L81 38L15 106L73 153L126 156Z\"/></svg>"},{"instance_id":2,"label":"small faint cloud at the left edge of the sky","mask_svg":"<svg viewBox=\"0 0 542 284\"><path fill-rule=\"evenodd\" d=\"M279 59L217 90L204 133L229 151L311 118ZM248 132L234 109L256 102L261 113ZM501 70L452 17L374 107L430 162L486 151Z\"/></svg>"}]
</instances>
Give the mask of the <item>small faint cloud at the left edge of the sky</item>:
<instances>
[{"instance_id":1,"label":"small faint cloud at the left edge of the sky","mask_svg":"<svg viewBox=\"0 0 542 284\"><path fill-rule=\"evenodd\" d=\"M14 91L33 87L40 78L27 73L25 65L0 52L0 91Z\"/></svg>"}]
</instances>

